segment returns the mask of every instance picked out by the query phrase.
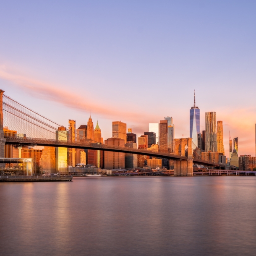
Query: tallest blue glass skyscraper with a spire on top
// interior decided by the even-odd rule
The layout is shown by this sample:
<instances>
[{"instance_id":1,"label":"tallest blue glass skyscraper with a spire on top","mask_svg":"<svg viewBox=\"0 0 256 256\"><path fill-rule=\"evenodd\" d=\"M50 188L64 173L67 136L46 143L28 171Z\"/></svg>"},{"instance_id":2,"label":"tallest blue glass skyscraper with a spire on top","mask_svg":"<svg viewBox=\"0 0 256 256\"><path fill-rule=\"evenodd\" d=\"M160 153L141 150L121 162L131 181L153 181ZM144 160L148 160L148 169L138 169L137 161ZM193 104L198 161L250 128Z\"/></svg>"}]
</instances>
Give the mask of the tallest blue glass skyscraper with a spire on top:
<instances>
[{"instance_id":1,"label":"tallest blue glass skyscraper with a spire on top","mask_svg":"<svg viewBox=\"0 0 256 256\"><path fill-rule=\"evenodd\" d=\"M196 107L196 93L194 92L194 105L189 111L190 115L190 129L189 136L192 138L192 148L195 149L198 146L197 134L200 133L200 109Z\"/></svg>"}]
</instances>

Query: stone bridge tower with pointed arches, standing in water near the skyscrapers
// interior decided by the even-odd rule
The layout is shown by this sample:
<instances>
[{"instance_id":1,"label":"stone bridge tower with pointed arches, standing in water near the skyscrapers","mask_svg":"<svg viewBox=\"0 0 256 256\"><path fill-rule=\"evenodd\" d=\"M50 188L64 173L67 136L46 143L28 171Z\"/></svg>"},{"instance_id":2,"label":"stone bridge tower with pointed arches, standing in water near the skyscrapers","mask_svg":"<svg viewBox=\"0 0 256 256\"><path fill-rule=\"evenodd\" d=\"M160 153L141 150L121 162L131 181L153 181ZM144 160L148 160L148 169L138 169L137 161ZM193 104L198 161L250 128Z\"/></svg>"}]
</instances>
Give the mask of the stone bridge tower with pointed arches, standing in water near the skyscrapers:
<instances>
[{"instance_id":1,"label":"stone bridge tower with pointed arches, standing in water near the skyscrapers","mask_svg":"<svg viewBox=\"0 0 256 256\"><path fill-rule=\"evenodd\" d=\"M174 153L178 155L181 149L181 156L185 157L186 145L188 146L188 159L174 160L174 176L193 176L192 138L175 138Z\"/></svg>"}]
</instances>

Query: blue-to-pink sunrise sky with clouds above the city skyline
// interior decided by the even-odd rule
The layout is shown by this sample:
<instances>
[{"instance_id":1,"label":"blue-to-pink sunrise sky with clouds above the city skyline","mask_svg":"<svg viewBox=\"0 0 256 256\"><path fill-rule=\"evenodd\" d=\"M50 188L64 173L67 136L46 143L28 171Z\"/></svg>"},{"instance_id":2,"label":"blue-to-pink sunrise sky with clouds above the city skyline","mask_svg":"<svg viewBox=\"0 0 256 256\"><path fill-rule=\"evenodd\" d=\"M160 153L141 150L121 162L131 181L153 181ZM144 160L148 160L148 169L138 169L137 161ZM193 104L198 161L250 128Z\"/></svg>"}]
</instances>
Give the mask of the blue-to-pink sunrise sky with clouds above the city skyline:
<instances>
[{"instance_id":1,"label":"blue-to-pink sunrise sky with clouds above the city skyline","mask_svg":"<svg viewBox=\"0 0 256 256\"><path fill-rule=\"evenodd\" d=\"M256 1L2 1L0 89L68 126L91 112L104 139L121 120L140 136L189 109L215 111L238 154L255 156Z\"/></svg>"}]
</instances>

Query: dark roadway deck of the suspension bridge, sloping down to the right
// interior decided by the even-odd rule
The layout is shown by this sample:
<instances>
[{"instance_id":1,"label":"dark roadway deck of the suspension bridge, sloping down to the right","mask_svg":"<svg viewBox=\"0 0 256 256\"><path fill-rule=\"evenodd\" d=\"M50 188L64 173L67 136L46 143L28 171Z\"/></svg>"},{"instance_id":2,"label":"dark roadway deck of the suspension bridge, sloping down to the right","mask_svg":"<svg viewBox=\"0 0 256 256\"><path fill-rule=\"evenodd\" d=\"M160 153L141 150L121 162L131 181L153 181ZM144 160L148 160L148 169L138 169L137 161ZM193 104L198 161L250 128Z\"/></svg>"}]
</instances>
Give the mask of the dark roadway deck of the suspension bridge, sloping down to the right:
<instances>
[{"instance_id":1,"label":"dark roadway deck of the suspension bridge, sloping down to the right","mask_svg":"<svg viewBox=\"0 0 256 256\"><path fill-rule=\"evenodd\" d=\"M188 158L185 156L163 153L163 152L154 152L150 150L141 150L141 149L133 149L129 147L121 147L121 146L110 146L102 143L90 143L90 142L72 142L72 141L62 141L62 140L54 140L54 139L46 139L46 138L24 138L24 137L7 137L5 136L6 144L12 144L16 146L54 146L54 147L65 147L65 148L74 148L74 149L94 149L94 150L102 150L102 151L111 151L111 152L121 152L121 153L130 153L130 154L139 154L146 155L151 157L161 157L166 159L173 160L187 160ZM208 165L208 166L218 166L224 167L225 165L216 164L212 162L203 161L201 159L193 159L193 162L199 165Z\"/></svg>"}]
</instances>

